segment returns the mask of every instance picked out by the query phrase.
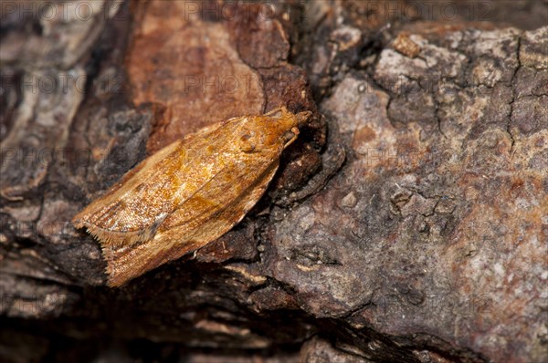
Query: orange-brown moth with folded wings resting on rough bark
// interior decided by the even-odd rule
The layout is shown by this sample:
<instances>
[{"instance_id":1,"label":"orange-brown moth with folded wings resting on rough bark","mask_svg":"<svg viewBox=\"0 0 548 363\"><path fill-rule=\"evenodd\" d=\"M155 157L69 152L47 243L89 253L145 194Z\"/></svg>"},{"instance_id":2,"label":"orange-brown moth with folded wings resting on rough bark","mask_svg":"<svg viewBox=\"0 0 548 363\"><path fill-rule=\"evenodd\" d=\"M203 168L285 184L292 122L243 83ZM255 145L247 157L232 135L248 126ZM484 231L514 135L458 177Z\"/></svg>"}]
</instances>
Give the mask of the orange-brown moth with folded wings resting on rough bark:
<instances>
[{"instance_id":1,"label":"orange-brown moth with folded wings resting on rough bark","mask_svg":"<svg viewBox=\"0 0 548 363\"><path fill-rule=\"evenodd\" d=\"M311 116L285 108L227 119L157 151L72 223L100 242L110 286L203 247L258 202Z\"/></svg>"}]
</instances>

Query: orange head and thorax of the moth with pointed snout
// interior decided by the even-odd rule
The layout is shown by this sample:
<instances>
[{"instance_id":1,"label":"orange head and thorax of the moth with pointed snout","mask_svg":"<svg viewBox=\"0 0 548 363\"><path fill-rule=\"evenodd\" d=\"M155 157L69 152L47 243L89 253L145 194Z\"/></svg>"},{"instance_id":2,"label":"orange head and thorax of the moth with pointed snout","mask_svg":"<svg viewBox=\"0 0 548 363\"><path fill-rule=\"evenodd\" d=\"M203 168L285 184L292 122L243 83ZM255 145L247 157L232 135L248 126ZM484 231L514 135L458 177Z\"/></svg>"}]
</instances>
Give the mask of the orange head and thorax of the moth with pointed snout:
<instances>
[{"instance_id":1,"label":"orange head and thorax of the moth with pointed snout","mask_svg":"<svg viewBox=\"0 0 548 363\"><path fill-rule=\"evenodd\" d=\"M249 117L239 134L239 149L258 152L265 149L284 149L299 135L299 126L311 112L293 114L285 108L273 109L262 116Z\"/></svg>"}]
</instances>

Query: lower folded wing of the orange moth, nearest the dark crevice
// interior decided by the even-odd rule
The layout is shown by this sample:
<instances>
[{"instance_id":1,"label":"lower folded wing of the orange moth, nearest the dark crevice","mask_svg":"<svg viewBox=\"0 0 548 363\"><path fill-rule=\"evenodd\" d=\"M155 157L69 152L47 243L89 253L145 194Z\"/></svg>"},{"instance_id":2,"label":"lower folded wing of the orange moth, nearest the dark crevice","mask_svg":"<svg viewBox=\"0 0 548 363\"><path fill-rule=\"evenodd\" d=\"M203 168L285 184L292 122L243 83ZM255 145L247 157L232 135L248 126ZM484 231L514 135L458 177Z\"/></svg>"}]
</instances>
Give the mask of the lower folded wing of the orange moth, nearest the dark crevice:
<instances>
[{"instance_id":1,"label":"lower folded wing of the orange moth, nearest the dark crevice","mask_svg":"<svg viewBox=\"0 0 548 363\"><path fill-rule=\"evenodd\" d=\"M227 233L242 220L265 192L278 169L278 159L267 166L245 188L240 186L227 189L227 183L220 185L218 179L212 181L211 187L203 189L205 193L196 193L184 202L182 208L170 215L169 220L164 221L165 225L159 228L150 241L134 247L104 246L103 254L108 264L108 285L123 285L132 278L188 254ZM236 175L235 180L237 177ZM216 202L211 202L213 200Z\"/></svg>"}]
</instances>

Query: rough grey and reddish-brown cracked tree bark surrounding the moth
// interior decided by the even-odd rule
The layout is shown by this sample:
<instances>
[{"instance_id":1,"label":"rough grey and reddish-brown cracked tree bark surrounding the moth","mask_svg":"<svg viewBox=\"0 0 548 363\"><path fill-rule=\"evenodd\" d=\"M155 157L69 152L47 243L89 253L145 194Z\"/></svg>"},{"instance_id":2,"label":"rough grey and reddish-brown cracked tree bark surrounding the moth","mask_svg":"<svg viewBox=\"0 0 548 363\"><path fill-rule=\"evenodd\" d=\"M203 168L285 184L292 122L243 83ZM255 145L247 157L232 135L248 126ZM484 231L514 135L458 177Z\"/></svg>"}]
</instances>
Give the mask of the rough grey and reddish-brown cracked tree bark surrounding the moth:
<instances>
[{"instance_id":1,"label":"rough grey and reddish-brown cracked tree bark surrounding the moth","mask_svg":"<svg viewBox=\"0 0 548 363\"><path fill-rule=\"evenodd\" d=\"M0 360L545 361L547 9L464 3L4 6ZM72 215L279 105L314 117L253 212L104 287Z\"/></svg>"}]
</instances>

